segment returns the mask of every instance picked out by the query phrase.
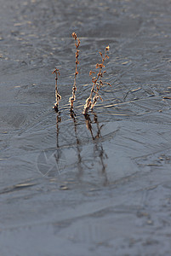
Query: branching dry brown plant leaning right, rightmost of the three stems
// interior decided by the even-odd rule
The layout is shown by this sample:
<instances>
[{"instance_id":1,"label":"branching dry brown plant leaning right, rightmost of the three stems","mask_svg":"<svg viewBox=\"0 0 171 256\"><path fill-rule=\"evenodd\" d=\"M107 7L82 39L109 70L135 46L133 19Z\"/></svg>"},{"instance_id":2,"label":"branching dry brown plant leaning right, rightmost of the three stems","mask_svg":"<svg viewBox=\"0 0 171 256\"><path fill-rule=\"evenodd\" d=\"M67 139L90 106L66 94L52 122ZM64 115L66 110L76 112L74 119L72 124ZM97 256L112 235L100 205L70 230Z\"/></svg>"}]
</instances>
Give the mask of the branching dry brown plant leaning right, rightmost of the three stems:
<instances>
[{"instance_id":1,"label":"branching dry brown plant leaning right, rightmost of the three stems","mask_svg":"<svg viewBox=\"0 0 171 256\"><path fill-rule=\"evenodd\" d=\"M105 71L102 73L102 68L105 67L105 65L104 65L105 60L109 58L109 56L107 55L108 50L109 50L109 46L105 47L105 57L103 57L102 53L100 52L102 61L100 64L99 63L96 64L96 68L99 68L99 73L97 74L97 77L93 77L93 74L95 72L90 71L90 73L89 73L89 75L92 76L93 85L92 85L90 95L89 95L88 99L86 100L86 104L84 106L83 114L85 114L85 115L88 114L89 108L91 108L91 110L93 110L94 105L99 98L101 101L103 101L99 94L99 90L103 86L102 77L103 77L103 74L105 73ZM100 79L100 81L99 81L99 79ZM107 83L107 84L109 84L109 83ZM109 85L111 85L111 84L109 84ZM93 94L94 94L94 98L92 99Z\"/></svg>"}]
</instances>

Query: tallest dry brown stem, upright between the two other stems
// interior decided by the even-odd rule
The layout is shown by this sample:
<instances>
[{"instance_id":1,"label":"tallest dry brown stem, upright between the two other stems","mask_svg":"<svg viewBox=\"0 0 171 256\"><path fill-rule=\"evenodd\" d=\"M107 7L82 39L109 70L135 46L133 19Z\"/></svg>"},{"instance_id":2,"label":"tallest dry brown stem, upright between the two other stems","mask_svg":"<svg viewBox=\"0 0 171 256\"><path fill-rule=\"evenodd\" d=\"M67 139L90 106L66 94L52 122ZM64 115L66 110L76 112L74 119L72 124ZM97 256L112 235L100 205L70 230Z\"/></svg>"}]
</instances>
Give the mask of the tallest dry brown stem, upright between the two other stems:
<instances>
[{"instance_id":1,"label":"tallest dry brown stem, upright between the two other stems","mask_svg":"<svg viewBox=\"0 0 171 256\"><path fill-rule=\"evenodd\" d=\"M72 96L70 97L69 99L69 102L70 102L70 105L71 105L71 108L70 108L70 112L71 112L71 115L75 114L74 111L73 111L73 104L74 104L74 101L76 100L76 90L77 90L77 86L76 86L76 77L77 77L77 74L78 74L78 71L77 71L77 65L79 64L79 61L78 61L78 56L79 56L79 50L78 50L78 47L80 45L80 40L77 38L77 33L73 32L71 34L72 38L75 39L75 46L76 46L76 70L75 70L75 76L74 76L74 84L73 84L73 87L72 87Z\"/></svg>"}]
</instances>

